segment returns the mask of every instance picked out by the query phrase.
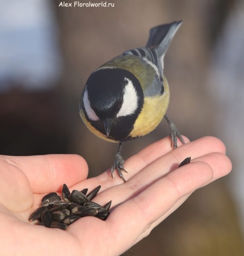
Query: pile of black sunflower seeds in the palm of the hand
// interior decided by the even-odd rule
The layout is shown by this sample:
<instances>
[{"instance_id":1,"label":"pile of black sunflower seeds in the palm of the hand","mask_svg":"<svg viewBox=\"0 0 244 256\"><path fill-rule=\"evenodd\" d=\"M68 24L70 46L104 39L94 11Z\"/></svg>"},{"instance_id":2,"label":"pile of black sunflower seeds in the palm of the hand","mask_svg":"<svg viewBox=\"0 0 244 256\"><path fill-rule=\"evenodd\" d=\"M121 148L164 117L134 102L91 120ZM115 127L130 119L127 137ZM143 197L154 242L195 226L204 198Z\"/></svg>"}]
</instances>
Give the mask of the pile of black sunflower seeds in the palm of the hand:
<instances>
[{"instance_id":1,"label":"pile of black sunflower seeds in the palm of the hand","mask_svg":"<svg viewBox=\"0 0 244 256\"><path fill-rule=\"evenodd\" d=\"M105 221L112 201L104 206L91 202L100 188L101 186L96 187L86 196L88 189L73 190L70 193L67 185L63 184L63 201L55 192L45 195L41 206L32 213L29 221L39 220L38 225L62 230L66 230L68 225L85 216L95 216Z\"/></svg>"}]
</instances>

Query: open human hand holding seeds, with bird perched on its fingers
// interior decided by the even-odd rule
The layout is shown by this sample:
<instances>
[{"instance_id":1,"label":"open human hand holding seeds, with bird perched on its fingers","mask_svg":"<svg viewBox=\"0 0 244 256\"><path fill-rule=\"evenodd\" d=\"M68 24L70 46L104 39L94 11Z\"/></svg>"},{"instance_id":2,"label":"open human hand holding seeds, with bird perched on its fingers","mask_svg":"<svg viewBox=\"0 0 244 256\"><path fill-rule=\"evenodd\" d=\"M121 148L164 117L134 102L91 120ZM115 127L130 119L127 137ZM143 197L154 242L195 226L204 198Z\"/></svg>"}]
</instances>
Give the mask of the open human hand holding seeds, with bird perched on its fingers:
<instances>
[{"instance_id":1,"label":"open human hand holding seeds, with bird perched on its fingers","mask_svg":"<svg viewBox=\"0 0 244 256\"><path fill-rule=\"evenodd\" d=\"M118 256L137 243L201 186L227 175L230 160L224 144L204 137L172 150L166 137L126 160L126 183L110 170L87 179L88 167L78 155L0 157L1 255ZM186 157L191 163L177 168ZM101 185L92 200L112 200L102 221L80 218L66 231L30 224L29 215L49 192Z\"/></svg>"}]
</instances>

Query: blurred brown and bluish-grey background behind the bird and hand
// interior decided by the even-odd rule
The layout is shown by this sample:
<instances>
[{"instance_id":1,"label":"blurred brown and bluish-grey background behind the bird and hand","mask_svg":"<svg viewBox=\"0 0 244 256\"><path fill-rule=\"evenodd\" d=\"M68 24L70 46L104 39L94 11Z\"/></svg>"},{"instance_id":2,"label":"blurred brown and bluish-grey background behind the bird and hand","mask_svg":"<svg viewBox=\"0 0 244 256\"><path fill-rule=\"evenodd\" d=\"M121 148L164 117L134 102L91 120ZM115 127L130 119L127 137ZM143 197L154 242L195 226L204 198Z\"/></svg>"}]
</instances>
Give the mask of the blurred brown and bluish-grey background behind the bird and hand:
<instances>
[{"instance_id":1,"label":"blurred brown and bluish-grey background behind the bird and hand","mask_svg":"<svg viewBox=\"0 0 244 256\"><path fill-rule=\"evenodd\" d=\"M0 0L0 154L80 154L89 177L109 169L117 144L96 137L79 116L86 80L111 58L144 46L153 26L184 20L165 56L167 114L190 140L223 140L233 172L194 192L124 255L243 256L244 1L106 2L114 7ZM163 120L125 143L122 155L166 136Z\"/></svg>"}]
</instances>

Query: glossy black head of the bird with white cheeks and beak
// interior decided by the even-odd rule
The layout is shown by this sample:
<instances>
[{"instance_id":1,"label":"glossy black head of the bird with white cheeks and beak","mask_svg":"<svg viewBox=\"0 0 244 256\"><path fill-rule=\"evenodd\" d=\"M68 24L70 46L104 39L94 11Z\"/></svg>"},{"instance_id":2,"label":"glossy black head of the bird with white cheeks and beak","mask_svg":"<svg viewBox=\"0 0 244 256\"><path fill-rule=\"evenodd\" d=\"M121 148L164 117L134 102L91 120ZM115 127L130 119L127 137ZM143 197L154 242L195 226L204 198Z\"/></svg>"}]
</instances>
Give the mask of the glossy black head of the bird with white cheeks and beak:
<instances>
[{"instance_id":1,"label":"glossy black head of the bird with white cheeks and beak","mask_svg":"<svg viewBox=\"0 0 244 256\"><path fill-rule=\"evenodd\" d=\"M87 80L81 100L86 119L96 130L125 141L130 139L144 96L140 82L128 70L100 68Z\"/></svg>"}]
</instances>

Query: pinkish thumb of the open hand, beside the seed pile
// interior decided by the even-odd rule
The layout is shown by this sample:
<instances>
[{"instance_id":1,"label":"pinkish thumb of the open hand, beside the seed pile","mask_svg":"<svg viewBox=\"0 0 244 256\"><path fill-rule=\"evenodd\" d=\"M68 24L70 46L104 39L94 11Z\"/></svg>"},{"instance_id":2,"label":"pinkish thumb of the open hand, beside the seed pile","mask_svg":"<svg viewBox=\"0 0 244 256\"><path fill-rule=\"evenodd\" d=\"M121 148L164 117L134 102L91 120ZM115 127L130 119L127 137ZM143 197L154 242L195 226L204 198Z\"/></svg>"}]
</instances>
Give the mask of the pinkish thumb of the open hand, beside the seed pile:
<instances>
[{"instance_id":1,"label":"pinkish thumb of the open hand, beside the seed pile","mask_svg":"<svg viewBox=\"0 0 244 256\"><path fill-rule=\"evenodd\" d=\"M75 154L4 157L26 174L33 193L60 192L63 183L73 186L86 179L88 174L86 161Z\"/></svg>"}]
</instances>

